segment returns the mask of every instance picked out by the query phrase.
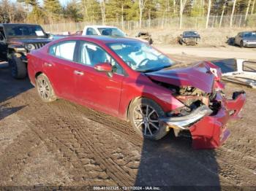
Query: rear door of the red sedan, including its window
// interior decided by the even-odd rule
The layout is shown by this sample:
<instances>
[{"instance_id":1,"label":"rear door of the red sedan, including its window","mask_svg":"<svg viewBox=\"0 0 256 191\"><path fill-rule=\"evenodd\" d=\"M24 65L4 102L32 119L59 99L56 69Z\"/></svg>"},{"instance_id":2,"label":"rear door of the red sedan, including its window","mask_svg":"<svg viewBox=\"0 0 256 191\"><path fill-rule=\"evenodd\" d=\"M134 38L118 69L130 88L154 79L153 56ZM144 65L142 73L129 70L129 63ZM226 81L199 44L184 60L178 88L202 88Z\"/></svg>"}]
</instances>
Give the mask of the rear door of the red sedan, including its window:
<instances>
[{"instance_id":1,"label":"rear door of the red sedan, including its window","mask_svg":"<svg viewBox=\"0 0 256 191\"><path fill-rule=\"evenodd\" d=\"M50 79L56 94L75 101L75 49L76 41L64 41L49 47L50 55L44 61L45 74Z\"/></svg>"}]
</instances>

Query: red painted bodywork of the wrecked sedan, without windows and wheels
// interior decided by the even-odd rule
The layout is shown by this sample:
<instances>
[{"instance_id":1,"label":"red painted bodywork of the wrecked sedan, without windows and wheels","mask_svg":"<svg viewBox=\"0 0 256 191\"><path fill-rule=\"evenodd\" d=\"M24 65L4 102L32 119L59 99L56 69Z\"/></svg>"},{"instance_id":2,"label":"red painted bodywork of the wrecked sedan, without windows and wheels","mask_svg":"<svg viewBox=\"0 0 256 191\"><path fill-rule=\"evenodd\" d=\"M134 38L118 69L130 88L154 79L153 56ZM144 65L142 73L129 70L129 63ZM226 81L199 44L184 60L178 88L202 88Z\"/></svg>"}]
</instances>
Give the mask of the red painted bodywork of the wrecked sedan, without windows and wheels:
<instances>
[{"instance_id":1,"label":"red painted bodywork of the wrecked sedan, without windows and wheels","mask_svg":"<svg viewBox=\"0 0 256 191\"><path fill-rule=\"evenodd\" d=\"M52 44L67 40L82 40L102 47L124 69L126 75L113 74L112 77L104 72L99 72L91 66L81 65L72 61L65 61L48 54L48 48ZM29 55L28 71L31 83L35 84L38 74L44 73L53 86L59 98L65 98L78 104L89 106L93 109L111 114L121 119L127 119L129 104L135 98L146 97L155 101L164 112L178 109L184 104L174 97L172 91L157 85L151 79L169 83L176 86L193 86L206 93L211 93L218 77L208 72L209 68L219 69L212 63L200 63L187 69L162 69L148 74L133 71L124 63L115 52L106 45L111 42L137 41L128 38L110 38L105 36L70 36L46 44L39 50L32 51ZM84 75L75 75L74 71ZM193 139L193 147L216 148L227 138L228 132L223 131L223 125L228 119L229 110L236 110L235 117L244 105L245 95L238 95L236 100L228 101L221 95L222 108L217 115L203 117L190 128ZM223 136L222 136L223 135ZM222 140L221 140L222 138Z\"/></svg>"}]
</instances>

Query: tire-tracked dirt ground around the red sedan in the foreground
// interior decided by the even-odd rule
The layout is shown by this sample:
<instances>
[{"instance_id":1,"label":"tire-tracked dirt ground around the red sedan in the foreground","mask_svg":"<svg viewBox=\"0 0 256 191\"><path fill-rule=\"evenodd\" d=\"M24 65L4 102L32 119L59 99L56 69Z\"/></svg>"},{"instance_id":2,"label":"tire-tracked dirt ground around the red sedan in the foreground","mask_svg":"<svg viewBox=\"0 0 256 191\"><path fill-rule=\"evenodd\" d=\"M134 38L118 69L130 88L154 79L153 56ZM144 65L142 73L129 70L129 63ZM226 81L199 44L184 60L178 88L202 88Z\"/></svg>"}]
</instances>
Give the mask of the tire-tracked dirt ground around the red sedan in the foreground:
<instances>
[{"instance_id":1,"label":"tire-tracked dirt ground around the red sedan in the foreground","mask_svg":"<svg viewBox=\"0 0 256 191\"><path fill-rule=\"evenodd\" d=\"M203 59L172 57L183 62ZM69 101L43 104L29 79L12 79L7 64L0 64L1 186L193 185L201 186L196 190L255 190L256 90L227 84L226 92L241 89L247 95L244 117L227 124L230 139L219 149L193 150L191 140L171 135L143 140L127 122Z\"/></svg>"}]
</instances>

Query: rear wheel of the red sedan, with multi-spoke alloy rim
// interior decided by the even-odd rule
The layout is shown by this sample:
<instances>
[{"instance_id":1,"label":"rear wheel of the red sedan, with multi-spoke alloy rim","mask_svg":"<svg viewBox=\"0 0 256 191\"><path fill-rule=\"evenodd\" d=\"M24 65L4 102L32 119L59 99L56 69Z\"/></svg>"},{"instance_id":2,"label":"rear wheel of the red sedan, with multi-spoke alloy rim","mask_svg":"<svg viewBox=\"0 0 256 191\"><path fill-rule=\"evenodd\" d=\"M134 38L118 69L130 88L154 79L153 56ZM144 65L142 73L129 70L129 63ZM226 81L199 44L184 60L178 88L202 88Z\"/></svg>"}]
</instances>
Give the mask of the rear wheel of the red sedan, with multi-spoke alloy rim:
<instances>
[{"instance_id":1,"label":"rear wheel of the red sedan, with multi-spoke alloy rim","mask_svg":"<svg viewBox=\"0 0 256 191\"><path fill-rule=\"evenodd\" d=\"M39 97L42 101L49 103L56 101L57 97L54 93L53 86L45 74L40 74L36 79L36 87Z\"/></svg>"}]
</instances>

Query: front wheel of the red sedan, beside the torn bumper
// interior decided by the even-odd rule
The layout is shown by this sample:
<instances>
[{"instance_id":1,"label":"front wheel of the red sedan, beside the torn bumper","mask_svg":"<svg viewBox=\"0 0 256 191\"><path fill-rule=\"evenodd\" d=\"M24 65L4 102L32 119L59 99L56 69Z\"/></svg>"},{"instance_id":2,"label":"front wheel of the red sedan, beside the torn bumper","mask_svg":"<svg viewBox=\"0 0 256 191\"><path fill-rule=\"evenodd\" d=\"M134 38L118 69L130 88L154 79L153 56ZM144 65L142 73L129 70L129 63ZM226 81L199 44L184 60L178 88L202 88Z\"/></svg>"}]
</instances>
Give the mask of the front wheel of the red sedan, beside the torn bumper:
<instances>
[{"instance_id":1,"label":"front wheel of the red sedan, beside the torn bumper","mask_svg":"<svg viewBox=\"0 0 256 191\"><path fill-rule=\"evenodd\" d=\"M165 117L165 112L151 99L139 98L129 107L129 121L143 138L159 140L167 134L166 128L159 126L159 117Z\"/></svg>"}]
</instances>

